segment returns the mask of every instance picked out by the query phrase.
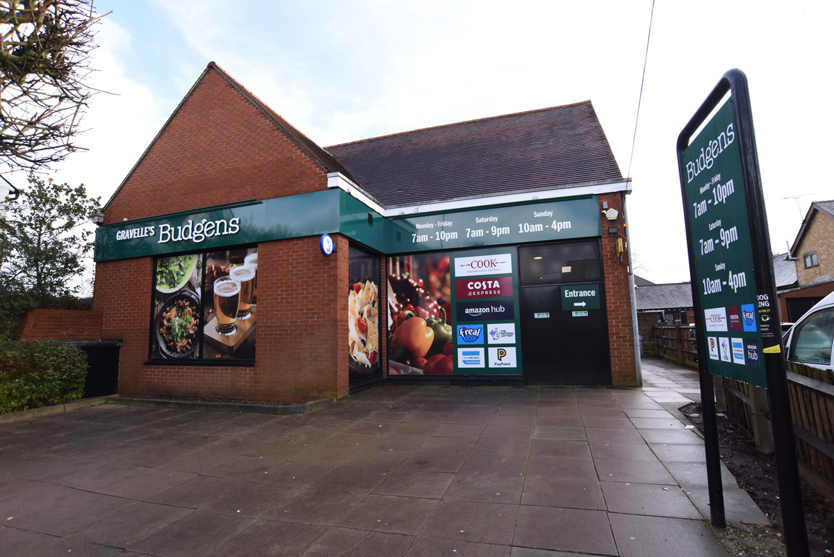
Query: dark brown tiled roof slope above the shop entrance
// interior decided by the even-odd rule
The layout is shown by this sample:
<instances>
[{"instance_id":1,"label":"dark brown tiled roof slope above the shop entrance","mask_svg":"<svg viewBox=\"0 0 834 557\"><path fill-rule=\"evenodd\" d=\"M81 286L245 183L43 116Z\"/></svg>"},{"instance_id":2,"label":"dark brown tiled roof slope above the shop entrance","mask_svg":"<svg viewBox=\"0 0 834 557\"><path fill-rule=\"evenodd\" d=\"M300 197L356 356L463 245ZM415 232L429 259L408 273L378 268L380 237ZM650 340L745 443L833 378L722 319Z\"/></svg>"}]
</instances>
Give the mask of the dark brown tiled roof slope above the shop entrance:
<instances>
[{"instance_id":1,"label":"dark brown tiled roof slope above the shop entrance","mask_svg":"<svg viewBox=\"0 0 834 557\"><path fill-rule=\"evenodd\" d=\"M386 207L623 180L590 101L325 149Z\"/></svg>"}]
</instances>

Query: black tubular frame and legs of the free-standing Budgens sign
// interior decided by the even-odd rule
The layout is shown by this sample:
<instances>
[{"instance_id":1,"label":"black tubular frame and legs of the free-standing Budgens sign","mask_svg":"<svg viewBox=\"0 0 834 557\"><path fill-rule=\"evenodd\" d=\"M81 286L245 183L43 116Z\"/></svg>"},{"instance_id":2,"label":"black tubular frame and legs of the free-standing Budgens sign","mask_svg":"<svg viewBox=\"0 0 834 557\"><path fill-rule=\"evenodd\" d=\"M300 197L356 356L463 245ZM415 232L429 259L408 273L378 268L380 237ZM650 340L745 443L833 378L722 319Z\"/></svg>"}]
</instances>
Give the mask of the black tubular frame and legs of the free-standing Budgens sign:
<instances>
[{"instance_id":1,"label":"black tubular frame and legs of the free-standing Budgens sign","mask_svg":"<svg viewBox=\"0 0 834 557\"><path fill-rule=\"evenodd\" d=\"M698 108L689 123L681 130L677 139L677 160L681 181L684 222L686 223L686 246L689 253L692 301L695 319L701 329L704 319L699 299L698 277L696 276L695 253L692 244L692 225L687 209L690 200L686 192L686 168L683 153L689 147L691 138L702 123L716 109L726 93L733 99L734 120L738 127L741 154L741 171L744 179L744 195L747 205L747 218L750 226L751 247L753 251L753 270L756 275L756 293L759 299L765 297L771 308L776 306L776 282L774 280L771 258L770 234L767 228L764 195L761 189L758 154L756 153L756 134L753 129L753 117L747 78L739 69L726 72L712 89L706 100ZM774 312L776 313L776 312ZM763 331L764 333L764 331ZM799 468L796 463L793 424L791 421L791 404L788 398L784 346L781 337L776 334L762 334L764 367L767 379L767 394L771 404L771 423L773 440L776 447L775 460L779 493L781 495L782 520L785 527L787 554L798 557L808 554L808 539L805 514L802 510ZM704 444L706 449L706 472L709 482L711 521L718 528L726 527L724 498L721 489L721 461L718 450L718 430L716 424L715 391L712 375L706 369L708 361L706 342L698 343L699 376L701 379L701 404L704 414Z\"/></svg>"}]
</instances>

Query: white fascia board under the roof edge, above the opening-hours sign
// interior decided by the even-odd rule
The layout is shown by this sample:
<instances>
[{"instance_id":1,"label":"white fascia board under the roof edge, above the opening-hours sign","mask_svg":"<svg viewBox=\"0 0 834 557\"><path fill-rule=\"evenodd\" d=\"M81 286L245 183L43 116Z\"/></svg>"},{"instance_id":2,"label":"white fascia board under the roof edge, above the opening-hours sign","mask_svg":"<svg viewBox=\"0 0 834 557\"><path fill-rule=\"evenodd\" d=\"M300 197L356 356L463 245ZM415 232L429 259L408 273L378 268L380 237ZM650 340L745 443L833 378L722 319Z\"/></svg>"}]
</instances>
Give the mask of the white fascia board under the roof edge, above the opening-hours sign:
<instances>
[{"instance_id":1,"label":"white fascia board under the roof edge, above the opening-hours sign","mask_svg":"<svg viewBox=\"0 0 834 557\"><path fill-rule=\"evenodd\" d=\"M327 175L328 188L341 188L345 192L359 199L362 203L374 209L384 217L396 217L401 214L414 213L435 213L438 211L455 211L460 209L489 207L490 205L503 205L505 203L523 203L529 201L545 201L559 198L573 198L580 195L599 195L600 193L631 193L631 179L622 182L591 184L577 186L575 188L545 189L525 193L509 193L507 195L494 195L483 198L455 199L438 203L426 203L424 205L411 205L407 207L383 208L356 184L345 178L343 174L334 172Z\"/></svg>"}]
</instances>

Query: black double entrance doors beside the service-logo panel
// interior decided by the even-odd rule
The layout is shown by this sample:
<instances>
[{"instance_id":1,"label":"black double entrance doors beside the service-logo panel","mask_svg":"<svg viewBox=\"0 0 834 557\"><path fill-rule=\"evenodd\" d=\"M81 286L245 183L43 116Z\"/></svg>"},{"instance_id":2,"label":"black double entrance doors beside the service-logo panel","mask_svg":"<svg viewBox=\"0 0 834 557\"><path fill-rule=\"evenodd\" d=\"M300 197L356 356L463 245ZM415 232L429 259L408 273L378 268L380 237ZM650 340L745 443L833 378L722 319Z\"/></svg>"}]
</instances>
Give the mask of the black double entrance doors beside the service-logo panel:
<instances>
[{"instance_id":1,"label":"black double entrance doors beside the service-logo panel","mask_svg":"<svg viewBox=\"0 0 834 557\"><path fill-rule=\"evenodd\" d=\"M595 283L599 288L599 283ZM521 330L527 384L607 385L608 338L600 309L562 309L564 285L521 288ZM597 290L599 292L599 290Z\"/></svg>"}]
</instances>

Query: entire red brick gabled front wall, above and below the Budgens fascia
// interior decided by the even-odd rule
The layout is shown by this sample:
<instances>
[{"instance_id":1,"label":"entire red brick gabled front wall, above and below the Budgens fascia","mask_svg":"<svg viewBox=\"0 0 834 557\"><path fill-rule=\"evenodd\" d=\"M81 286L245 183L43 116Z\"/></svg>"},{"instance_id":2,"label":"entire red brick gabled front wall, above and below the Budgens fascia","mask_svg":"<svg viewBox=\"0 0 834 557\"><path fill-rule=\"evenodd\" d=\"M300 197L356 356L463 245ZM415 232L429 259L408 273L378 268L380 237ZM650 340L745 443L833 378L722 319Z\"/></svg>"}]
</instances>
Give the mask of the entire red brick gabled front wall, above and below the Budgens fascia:
<instances>
[{"instance_id":1,"label":"entire red brick gabled front wall, above and below the Budgens fascia","mask_svg":"<svg viewBox=\"0 0 834 557\"><path fill-rule=\"evenodd\" d=\"M108 207L105 222L327 188L327 174L214 69L194 88ZM93 308L123 338L119 394L298 401L348 392L348 244L258 246L254 367L146 365L153 258L98 263ZM343 346L345 344L345 346Z\"/></svg>"}]
</instances>

